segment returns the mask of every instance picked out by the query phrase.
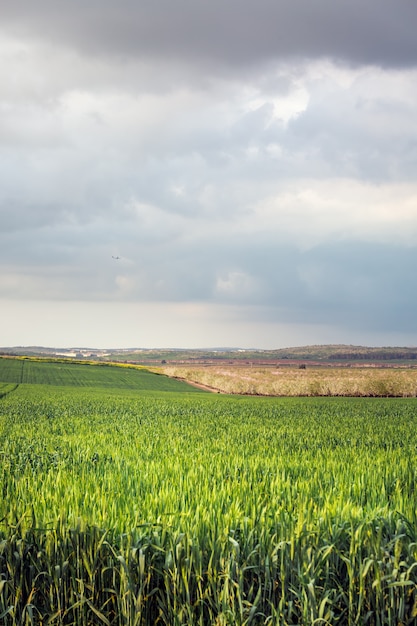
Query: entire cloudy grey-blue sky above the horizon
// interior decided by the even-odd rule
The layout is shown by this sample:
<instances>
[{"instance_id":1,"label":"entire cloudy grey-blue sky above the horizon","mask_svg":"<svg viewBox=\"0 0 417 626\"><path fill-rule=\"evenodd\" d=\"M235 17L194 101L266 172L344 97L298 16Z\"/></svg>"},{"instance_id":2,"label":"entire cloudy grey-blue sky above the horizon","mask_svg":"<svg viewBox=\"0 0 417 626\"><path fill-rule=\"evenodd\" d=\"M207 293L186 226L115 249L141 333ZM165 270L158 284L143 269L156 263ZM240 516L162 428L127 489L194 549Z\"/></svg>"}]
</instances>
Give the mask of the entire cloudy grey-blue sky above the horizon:
<instances>
[{"instance_id":1,"label":"entire cloudy grey-blue sky above the horizon","mask_svg":"<svg viewBox=\"0 0 417 626\"><path fill-rule=\"evenodd\" d=\"M417 345L415 0L0 15L0 346Z\"/></svg>"}]
</instances>

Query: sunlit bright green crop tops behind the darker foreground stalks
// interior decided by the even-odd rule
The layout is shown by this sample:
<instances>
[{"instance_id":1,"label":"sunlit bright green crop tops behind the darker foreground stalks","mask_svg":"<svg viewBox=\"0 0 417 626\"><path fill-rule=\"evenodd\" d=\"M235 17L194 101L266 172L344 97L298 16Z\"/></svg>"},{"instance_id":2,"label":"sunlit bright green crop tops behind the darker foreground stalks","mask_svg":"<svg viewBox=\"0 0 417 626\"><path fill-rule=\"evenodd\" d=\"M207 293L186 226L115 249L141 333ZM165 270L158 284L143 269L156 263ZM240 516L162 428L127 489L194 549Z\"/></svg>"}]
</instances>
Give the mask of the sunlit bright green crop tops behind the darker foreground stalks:
<instances>
[{"instance_id":1,"label":"sunlit bright green crop tops behind the darker foreground stalks","mask_svg":"<svg viewBox=\"0 0 417 626\"><path fill-rule=\"evenodd\" d=\"M218 500L224 528L267 507L272 524L286 518L285 539L300 516L314 526L324 512L400 511L414 524L415 408L21 385L0 404L4 478L18 479L8 507L41 525L82 517L123 532L161 515L182 523L202 501L213 515Z\"/></svg>"}]
</instances>

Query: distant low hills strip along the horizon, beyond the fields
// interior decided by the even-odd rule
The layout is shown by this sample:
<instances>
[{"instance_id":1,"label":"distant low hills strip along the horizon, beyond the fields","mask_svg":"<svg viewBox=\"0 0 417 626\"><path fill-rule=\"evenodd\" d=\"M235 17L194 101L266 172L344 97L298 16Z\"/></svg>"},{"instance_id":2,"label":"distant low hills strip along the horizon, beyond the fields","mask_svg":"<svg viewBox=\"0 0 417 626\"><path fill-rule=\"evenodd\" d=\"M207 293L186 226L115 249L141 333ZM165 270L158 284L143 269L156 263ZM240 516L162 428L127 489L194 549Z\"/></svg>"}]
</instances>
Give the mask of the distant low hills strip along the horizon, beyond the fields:
<instances>
[{"instance_id":1,"label":"distant low hills strip along the horizon, beyond the fields","mask_svg":"<svg viewBox=\"0 0 417 626\"><path fill-rule=\"evenodd\" d=\"M207 349L95 349L48 348L42 346L17 346L0 348L0 355L40 356L98 361L123 361L135 363L216 363L216 362L278 362L308 361L318 363L338 362L402 362L417 364L417 347L367 347L353 345L312 345L277 350L242 348Z\"/></svg>"}]
</instances>

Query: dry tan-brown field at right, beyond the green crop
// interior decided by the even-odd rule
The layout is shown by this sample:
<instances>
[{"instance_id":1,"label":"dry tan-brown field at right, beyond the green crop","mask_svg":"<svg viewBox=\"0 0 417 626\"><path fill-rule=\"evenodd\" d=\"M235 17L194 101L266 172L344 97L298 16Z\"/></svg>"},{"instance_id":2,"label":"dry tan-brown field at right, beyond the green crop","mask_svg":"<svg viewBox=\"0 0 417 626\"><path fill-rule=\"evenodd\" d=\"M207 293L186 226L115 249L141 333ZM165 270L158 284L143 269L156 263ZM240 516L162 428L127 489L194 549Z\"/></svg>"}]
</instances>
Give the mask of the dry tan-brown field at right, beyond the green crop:
<instances>
[{"instance_id":1,"label":"dry tan-brown field at right, beyond the green crop","mask_svg":"<svg viewBox=\"0 0 417 626\"><path fill-rule=\"evenodd\" d=\"M417 397L417 369L406 367L166 365L153 371L227 394Z\"/></svg>"}]
</instances>

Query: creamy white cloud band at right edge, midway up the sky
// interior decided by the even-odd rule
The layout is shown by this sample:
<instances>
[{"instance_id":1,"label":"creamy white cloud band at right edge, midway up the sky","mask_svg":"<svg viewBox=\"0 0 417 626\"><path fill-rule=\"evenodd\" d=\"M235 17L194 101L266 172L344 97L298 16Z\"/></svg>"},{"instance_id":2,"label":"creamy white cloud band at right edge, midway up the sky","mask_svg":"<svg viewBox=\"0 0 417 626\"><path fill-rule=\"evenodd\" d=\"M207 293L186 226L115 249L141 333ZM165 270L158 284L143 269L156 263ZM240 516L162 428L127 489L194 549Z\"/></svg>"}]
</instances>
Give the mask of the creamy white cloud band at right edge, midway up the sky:
<instances>
[{"instance_id":1,"label":"creamy white cloud band at right edge, midway up the sky","mask_svg":"<svg viewBox=\"0 0 417 626\"><path fill-rule=\"evenodd\" d=\"M262 200L241 229L274 233L301 249L326 241L417 245L417 185L371 185L352 179L297 180Z\"/></svg>"}]
</instances>

